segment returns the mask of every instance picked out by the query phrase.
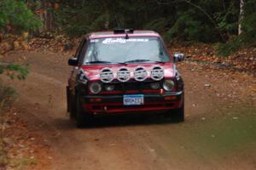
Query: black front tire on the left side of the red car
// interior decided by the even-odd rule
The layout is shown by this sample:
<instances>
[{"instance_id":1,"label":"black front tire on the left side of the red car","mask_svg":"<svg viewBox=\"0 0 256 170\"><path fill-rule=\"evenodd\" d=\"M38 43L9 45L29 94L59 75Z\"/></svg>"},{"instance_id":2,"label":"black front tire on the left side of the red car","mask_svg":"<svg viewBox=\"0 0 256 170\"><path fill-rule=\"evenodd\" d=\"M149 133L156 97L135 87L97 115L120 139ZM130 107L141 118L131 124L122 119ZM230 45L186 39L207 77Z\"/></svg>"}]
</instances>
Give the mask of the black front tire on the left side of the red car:
<instances>
[{"instance_id":1,"label":"black front tire on the left side of the red car","mask_svg":"<svg viewBox=\"0 0 256 170\"><path fill-rule=\"evenodd\" d=\"M83 111L82 107L82 101L81 101L81 96L77 94L77 99L76 99L76 125L77 127L86 127L89 126L92 122L92 116L86 114L86 112Z\"/></svg>"}]
</instances>

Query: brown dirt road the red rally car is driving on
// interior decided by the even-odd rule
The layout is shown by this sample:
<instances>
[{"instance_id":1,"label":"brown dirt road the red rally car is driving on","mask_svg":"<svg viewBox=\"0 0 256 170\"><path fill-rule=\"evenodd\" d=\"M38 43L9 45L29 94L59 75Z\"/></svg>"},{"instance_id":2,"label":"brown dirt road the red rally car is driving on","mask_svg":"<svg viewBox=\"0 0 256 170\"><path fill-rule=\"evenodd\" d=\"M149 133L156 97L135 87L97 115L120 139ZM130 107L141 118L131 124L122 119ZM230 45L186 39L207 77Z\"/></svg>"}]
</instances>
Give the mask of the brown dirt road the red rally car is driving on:
<instances>
[{"instance_id":1,"label":"brown dirt road the red rally car is driving on","mask_svg":"<svg viewBox=\"0 0 256 170\"><path fill-rule=\"evenodd\" d=\"M186 122L108 117L78 129L66 111L67 54L20 52L30 63L17 88L22 119L51 146L52 169L255 169L255 77L183 62ZM23 57L25 56L25 57Z\"/></svg>"}]
</instances>

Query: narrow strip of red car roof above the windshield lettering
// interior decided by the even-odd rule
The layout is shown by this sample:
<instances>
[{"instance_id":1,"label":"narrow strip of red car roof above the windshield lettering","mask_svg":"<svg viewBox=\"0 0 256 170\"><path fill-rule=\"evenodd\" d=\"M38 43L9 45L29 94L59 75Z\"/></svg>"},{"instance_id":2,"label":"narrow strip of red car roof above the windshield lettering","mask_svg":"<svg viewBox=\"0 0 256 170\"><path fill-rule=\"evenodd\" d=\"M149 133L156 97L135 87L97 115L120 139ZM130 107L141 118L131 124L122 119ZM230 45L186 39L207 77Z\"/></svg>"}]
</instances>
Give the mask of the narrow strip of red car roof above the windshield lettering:
<instances>
[{"instance_id":1,"label":"narrow strip of red car roof above the windshield lettering","mask_svg":"<svg viewBox=\"0 0 256 170\"><path fill-rule=\"evenodd\" d=\"M147 30L136 30L133 31L133 33L114 33L113 31L97 31L97 32L91 32L90 34L87 34L86 37L89 37L90 39L94 38L104 38L104 37L125 37L128 35L128 37L160 37L159 33L155 31L147 31Z\"/></svg>"}]
</instances>

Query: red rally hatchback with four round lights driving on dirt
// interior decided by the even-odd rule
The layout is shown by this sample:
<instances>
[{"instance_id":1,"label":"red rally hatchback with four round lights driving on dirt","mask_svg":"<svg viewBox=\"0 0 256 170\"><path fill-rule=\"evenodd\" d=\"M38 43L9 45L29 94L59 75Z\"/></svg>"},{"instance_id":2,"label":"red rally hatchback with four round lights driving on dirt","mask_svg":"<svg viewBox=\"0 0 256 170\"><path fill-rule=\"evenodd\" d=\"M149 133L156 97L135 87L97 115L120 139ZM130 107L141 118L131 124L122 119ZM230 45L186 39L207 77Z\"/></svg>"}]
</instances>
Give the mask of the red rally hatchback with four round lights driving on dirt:
<instances>
[{"instance_id":1,"label":"red rally hatchback with four round lights driving on dirt","mask_svg":"<svg viewBox=\"0 0 256 170\"><path fill-rule=\"evenodd\" d=\"M78 127L93 116L164 113L184 121L183 79L154 31L119 29L93 32L68 60L67 111Z\"/></svg>"}]
</instances>

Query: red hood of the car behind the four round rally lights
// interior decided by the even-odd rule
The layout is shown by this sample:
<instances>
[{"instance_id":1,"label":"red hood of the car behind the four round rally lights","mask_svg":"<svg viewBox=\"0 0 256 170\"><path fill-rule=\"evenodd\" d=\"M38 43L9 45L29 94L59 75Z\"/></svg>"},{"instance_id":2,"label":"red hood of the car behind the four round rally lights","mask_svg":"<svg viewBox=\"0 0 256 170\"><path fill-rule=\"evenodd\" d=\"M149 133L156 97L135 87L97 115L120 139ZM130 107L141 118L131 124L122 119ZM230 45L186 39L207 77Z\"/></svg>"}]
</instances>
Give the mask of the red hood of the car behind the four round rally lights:
<instances>
[{"instance_id":1,"label":"red hood of the car behind the four round rally lights","mask_svg":"<svg viewBox=\"0 0 256 170\"><path fill-rule=\"evenodd\" d=\"M110 68L113 71L114 80L117 78L117 72L121 67L128 68L129 71L133 72L137 66L143 66L148 71L148 77L150 78L150 70L156 66L160 65L164 69L164 77L172 78L175 76L174 73L174 64L173 63L139 63L139 64L129 64L129 65L82 65L81 69L84 71L85 76L90 81L98 81L100 80L100 72L103 68ZM131 79L133 78L133 74L131 74Z\"/></svg>"}]
</instances>

